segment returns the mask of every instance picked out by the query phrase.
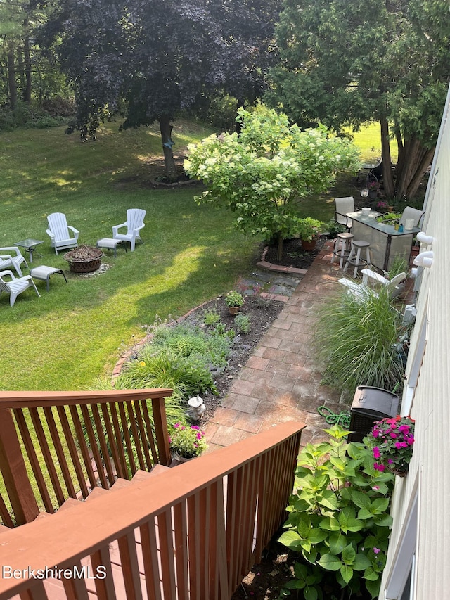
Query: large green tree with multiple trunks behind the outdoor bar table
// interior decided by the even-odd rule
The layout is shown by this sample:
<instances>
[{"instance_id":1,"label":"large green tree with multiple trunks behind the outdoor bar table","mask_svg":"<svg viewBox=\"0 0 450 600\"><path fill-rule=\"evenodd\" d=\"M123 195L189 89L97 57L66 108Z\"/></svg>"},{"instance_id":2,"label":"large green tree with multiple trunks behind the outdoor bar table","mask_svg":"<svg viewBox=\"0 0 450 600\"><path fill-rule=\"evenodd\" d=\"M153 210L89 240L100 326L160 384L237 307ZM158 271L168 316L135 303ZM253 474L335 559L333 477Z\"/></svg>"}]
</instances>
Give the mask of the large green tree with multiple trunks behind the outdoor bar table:
<instances>
[{"instance_id":1,"label":"large green tree with multiple trunks behind the outdoor bar table","mask_svg":"<svg viewBox=\"0 0 450 600\"><path fill-rule=\"evenodd\" d=\"M378 120L388 196L410 198L430 164L450 80L446 0L285 0L272 102L340 131ZM390 136L399 158L391 169Z\"/></svg>"}]
</instances>

